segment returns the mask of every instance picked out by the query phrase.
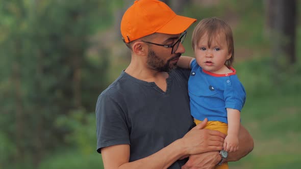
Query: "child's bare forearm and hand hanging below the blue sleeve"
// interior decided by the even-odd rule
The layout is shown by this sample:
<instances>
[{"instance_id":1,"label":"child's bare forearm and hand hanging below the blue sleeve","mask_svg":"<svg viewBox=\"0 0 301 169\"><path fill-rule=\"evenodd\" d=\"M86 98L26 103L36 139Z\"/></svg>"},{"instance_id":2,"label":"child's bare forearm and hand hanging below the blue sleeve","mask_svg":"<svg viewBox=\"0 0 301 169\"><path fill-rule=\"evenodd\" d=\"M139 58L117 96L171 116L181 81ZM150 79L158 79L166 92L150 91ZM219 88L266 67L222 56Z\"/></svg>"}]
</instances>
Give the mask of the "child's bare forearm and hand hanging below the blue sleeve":
<instances>
[{"instance_id":1,"label":"child's bare forearm and hand hanging below the blue sleeve","mask_svg":"<svg viewBox=\"0 0 301 169\"><path fill-rule=\"evenodd\" d=\"M228 152L238 150L238 132L240 126L240 111L227 108L228 135L224 139L223 149Z\"/></svg>"}]
</instances>

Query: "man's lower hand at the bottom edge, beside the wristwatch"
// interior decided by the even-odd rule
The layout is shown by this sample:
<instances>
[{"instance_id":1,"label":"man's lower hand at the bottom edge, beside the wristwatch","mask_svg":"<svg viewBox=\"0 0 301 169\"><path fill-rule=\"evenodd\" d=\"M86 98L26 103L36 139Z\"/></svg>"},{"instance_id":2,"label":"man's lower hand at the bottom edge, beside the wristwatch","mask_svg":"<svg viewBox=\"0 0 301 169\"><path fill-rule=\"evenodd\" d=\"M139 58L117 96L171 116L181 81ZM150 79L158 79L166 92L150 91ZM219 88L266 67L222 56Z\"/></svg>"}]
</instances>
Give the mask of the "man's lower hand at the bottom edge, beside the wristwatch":
<instances>
[{"instance_id":1,"label":"man's lower hand at the bottom edge, beside the wristwatch","mask_svg":"<svg viewBox=\"0 0 301 169\"><path fill-rule=\"evenodd\" d=\"M191 155L182 169L214 168L220 160L218 151Z\"/></svg>"}]
</instances>

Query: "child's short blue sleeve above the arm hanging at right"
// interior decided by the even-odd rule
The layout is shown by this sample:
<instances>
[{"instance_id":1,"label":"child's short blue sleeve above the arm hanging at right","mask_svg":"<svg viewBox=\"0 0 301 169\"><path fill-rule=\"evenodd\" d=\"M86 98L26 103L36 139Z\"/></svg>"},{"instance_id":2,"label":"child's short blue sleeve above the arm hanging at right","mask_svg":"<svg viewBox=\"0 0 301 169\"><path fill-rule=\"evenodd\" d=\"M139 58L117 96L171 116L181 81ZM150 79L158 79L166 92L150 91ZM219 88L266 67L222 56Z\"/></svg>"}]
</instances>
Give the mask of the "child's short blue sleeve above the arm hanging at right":
<instances>
[{"instance_id":1,"label":"child's short blue sleeve above the arm hanging at right","mask_svg":"<svg viewBox=\"0 0 301 169\"><path fill-rule=\"evenodd\" d=\"M246 93L244 87L237 78L230 78L225 81L225 90L223 94L225 108L233 108L241 111L246 100Z\"/></svg>"}]
</instances>

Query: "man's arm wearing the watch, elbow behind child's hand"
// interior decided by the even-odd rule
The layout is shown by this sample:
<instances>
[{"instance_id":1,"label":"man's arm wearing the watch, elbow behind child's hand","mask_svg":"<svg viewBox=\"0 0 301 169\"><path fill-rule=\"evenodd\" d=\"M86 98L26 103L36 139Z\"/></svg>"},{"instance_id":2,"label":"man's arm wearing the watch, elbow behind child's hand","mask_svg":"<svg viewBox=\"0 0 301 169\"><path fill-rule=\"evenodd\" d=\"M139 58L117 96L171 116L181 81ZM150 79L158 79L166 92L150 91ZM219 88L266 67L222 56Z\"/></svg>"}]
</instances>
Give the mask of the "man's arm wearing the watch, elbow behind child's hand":
<instances>
[{"instance_id":1,"label":"man's arm wearing the watch, elbow behind child's hand","mask_svg":"<svg viewBox=\"0 0 301 169\"><path fill-rule=\"evenodd\" d=\"M252 136L242 125L240 125L239 128L239 150L229 153L228 158L225 160L225 162L238 161L239 159L250 153L254 148L254 141ZM220 160L221 157L217 151L191 155L189 156L189 160L182 168L214 168Z\"/></svg>"}]
</instances>

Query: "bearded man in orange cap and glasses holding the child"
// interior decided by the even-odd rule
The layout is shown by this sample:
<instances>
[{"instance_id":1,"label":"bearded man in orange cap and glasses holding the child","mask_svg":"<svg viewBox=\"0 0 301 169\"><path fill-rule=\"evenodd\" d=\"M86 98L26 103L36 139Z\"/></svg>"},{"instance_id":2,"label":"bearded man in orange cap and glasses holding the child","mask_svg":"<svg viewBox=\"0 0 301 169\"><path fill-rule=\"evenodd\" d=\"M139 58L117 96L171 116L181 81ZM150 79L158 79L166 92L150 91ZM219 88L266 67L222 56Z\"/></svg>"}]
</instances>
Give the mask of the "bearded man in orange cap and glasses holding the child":
<instances>
[{"instance_id":1,"label":"bearded man in orange cap and glasses holding the child","mask_svg":"<svg viewBox=\"0 0 301 169\"><path fill-rule=\"evenodd\" d=\"M177 68L193 22L157 0L135 1L124 13L121 34L132 60L96 104L97 152L105 168L212 168L252 151L253 139L241 127L240 150L222 158L225 135L202 129L206 119L193 123L190 72Z\"/></svg>"}]
</instances>

